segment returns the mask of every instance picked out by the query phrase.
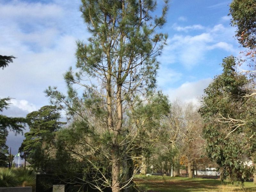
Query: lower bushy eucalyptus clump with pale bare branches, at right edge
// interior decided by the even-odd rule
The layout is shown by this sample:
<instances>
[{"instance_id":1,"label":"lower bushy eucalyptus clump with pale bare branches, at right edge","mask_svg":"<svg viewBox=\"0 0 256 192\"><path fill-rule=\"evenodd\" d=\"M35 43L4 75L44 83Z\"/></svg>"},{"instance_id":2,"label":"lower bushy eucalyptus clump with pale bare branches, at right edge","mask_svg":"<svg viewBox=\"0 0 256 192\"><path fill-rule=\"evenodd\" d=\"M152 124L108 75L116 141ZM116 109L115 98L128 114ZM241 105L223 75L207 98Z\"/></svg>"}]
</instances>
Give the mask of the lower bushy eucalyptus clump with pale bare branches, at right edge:
<instances>
[{"instance_id":1,"label":"lower bushy eucalyptus clump with pale bare branches, at right edge","mask_svg":"<svg viewBox=\"0 0 256 192\"><path fill-rule=\"evenodd\" d=\"M253 167L243 162L256 152L256 100L246 97L249 80L235 66L233 56L223 59L223 73L204 90L199 112L206 122L203 132L210 158L223 168L224 177L244 181Z\"/></svg>"}]
</instances>

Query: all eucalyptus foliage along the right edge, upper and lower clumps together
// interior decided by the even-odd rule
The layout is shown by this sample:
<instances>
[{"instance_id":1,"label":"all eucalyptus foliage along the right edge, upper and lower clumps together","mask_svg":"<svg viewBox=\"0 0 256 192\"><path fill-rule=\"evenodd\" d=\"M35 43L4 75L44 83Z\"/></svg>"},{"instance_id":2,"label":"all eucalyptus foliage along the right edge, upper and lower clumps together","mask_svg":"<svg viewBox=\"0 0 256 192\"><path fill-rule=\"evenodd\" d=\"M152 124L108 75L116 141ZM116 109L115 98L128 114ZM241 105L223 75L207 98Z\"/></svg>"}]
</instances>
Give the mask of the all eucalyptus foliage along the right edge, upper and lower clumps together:
<instances>
[{"instance_id":1,"label":"all eucalyptus foliage along the right edge, upper and lower clumps together","mask_svg":"<svg viewBox=\"0 0 256 192\"><path fill-rule=\"evenodd\" d=\"M224 169L224 177L244 181L253 169L242 162L255 159L255 1L233 0L229 14L245 52L242 59L230 56L223 60L223 73L205 89L200 113L207 122L204 136L209 156ZM250 68L237 69L244 63Z\"/></svg>"}]
</instances>

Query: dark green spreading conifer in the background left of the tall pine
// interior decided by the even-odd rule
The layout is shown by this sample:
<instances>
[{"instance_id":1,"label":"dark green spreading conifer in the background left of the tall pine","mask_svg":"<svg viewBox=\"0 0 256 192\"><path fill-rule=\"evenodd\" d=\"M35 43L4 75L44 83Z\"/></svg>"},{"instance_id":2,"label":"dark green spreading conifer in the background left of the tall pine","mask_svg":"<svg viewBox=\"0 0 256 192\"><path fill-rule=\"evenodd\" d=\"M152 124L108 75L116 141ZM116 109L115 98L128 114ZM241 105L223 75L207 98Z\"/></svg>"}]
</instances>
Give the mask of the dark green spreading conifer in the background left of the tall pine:
<instances>
[{"instance_id":1,"label":"dark green spreading conifer in the background left of the tall pine","mask_svg":"<svg viewBox=\"0 0 256 192\"><path fill-rule=\"evenodd\" d=\"M23 152L21 156L26 156L28 161L38 171L47 168L45 162L46 154L43 145L46 141L53 139L53 132L60 129L64 122L59 122L60 110L56 106L44 106L38 111L29 113L26 117L29 126L29 132L25 133L19 152Z\"/></svg>"}]
</instances>

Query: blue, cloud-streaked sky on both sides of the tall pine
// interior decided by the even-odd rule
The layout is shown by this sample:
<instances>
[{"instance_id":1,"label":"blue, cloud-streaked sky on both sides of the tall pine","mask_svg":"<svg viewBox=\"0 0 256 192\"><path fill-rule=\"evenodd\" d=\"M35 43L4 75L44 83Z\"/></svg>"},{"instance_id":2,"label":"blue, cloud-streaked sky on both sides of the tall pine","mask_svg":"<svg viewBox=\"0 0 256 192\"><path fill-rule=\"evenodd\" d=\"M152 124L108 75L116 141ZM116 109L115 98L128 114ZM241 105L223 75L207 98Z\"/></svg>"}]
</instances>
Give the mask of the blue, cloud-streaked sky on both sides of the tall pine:
<instances>
[{"instance_id":1,"label":"blue, cloud-streaked sky on both sides of the tall pine","mask_svg":"<svg viewBox=\"0 0 256 192\"><path fill-rule=\"evenodd\" d=\"M160 8L163 1L157 2ZM212 78L221 73L222 59L241 51L236 29L230 26L230 2L170 1L163 28L168 45L158 59L157 77L158 88L170 101L198 103ZM75 68L76 40L86 42L90 37L80 4L80 0L0 0L0 55L16 57L0 70L0 98L13 98L4 115L25 117L49 105L44 90L50 85L65 92L63 73ZM23 139L9 133L7 145L13 153L18 153Z\"/></svg>"}]
</instances>

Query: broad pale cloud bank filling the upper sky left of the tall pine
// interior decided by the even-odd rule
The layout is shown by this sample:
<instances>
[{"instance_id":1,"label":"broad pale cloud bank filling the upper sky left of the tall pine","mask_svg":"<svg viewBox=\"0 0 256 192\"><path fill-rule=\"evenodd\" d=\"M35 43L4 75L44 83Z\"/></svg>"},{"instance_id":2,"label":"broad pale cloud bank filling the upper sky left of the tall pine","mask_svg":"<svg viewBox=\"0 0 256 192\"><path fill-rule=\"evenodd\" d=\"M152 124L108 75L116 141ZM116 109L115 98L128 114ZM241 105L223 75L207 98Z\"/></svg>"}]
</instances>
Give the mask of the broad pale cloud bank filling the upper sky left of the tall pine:
<instances>
[{"instance_id":1,"label":"broad pale cloud bank filling the upper sky left of the tall pine","mask_svg":"<svg viewBox=\"0 0 256 192\"><path fill-rule=\"evenodd\" d=\"M42 106L48 104L43 91L49 85L64 90L63 73L76 63L75 42L88 37L79 4L0 0L0 54L17 57L0 70L0 80L6 82L0 87L3 97Z\"/></svg>"}]
</instances>

